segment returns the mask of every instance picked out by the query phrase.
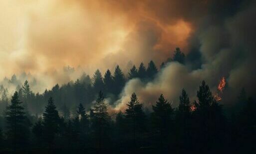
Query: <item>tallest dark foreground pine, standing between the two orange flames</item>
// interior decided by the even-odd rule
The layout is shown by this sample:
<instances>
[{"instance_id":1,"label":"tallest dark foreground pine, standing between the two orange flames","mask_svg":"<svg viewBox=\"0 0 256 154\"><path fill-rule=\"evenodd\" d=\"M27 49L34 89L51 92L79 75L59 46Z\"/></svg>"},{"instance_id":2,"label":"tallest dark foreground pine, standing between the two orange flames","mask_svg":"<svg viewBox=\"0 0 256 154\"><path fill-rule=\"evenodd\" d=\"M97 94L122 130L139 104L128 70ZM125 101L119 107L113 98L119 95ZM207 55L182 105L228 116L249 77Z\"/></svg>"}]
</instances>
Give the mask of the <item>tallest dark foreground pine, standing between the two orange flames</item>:
<instances>
[{"instance_id":1,"label":"tallest dark foreground pine, standing between the two orange flames","mask_svg":"<svg viewBox=\"0 0 256 154\"><path fill-rule=\"evenodd\" d=\"M213 151L221 149L221 141L224 135L224 116L222 107L215 100L209 86L202 81L197 91L198 102L195 102L196 111L193 112L193 144L198 145L202 153L208 152L210 147ZM192 146L195 146L192 145Z\"/></svg>"}]
</instances>

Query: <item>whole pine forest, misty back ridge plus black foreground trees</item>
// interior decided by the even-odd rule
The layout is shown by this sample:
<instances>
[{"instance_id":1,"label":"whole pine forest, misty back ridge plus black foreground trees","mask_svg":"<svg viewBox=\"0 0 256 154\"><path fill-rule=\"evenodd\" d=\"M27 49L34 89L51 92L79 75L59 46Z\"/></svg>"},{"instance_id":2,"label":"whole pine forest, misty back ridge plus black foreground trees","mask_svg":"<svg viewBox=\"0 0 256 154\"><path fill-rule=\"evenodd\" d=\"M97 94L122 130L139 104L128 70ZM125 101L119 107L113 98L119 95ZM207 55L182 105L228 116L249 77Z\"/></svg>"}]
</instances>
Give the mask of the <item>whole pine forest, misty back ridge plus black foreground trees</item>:
<instances>
[{"instance_id":1,"label":"whole pine forest, misty back ridge plus black foreground trees","mask_svg":"<svg viewBox=\"0 0 256 154\"><path fill-rule=\"evenodd\" d=\"M225 103L207 82L198 85L197 99L180 91L179 105L172 106L159 93L146 108L132 93L123 111L110 112L126 82L149 82L169 62L184 64L176 48L172 58L157 67L153 61L133 66L125 75L117 65L114 73L96 70L67 84L56 84L34 93L26 80L7 97L0 86L1 154L212 154L256 152L256 102L242 88L236 107ZM159 69L158 69L159 68ZM10 81L15 82L13 76Z\"/></svg>"}]
</instances>

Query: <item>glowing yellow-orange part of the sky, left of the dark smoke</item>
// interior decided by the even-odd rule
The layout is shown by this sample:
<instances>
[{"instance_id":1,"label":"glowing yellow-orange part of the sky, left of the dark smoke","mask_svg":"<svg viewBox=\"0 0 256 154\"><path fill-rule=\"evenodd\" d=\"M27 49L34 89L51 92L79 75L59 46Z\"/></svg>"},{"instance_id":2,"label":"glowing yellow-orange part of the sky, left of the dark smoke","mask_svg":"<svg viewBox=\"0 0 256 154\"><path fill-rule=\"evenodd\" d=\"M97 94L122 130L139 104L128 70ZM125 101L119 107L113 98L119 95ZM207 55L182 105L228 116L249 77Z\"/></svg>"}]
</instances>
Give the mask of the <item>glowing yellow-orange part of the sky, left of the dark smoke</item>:
<instances>
[{"instance_id":1,"label":"glowing yellow-orange part of the sky, left of the dark smoke","mask_svg":"<svg viewBox=\"0 0 256 154\"><path fill-rule=\"evenodd\" d=\"M96 68L105 71L116 64L138 65L153 58L159 64L176 46L185 49L192 31L182 17L159 19L162 15L151 10L150 1L0 3L0 77L51 73L65 66L80 66L92 73Z\"/></svg>"}]
</instances>

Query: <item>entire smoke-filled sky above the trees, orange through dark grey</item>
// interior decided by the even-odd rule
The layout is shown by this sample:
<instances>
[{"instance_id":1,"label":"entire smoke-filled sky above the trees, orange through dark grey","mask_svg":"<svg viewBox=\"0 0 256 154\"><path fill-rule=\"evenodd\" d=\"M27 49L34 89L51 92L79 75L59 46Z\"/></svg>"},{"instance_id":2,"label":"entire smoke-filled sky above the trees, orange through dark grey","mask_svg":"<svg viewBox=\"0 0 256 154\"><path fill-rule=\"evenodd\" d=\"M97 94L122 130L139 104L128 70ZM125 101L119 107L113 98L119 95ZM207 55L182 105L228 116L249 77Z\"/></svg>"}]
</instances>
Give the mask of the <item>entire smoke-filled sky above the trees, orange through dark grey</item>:
<instances>
[{"instance_id":1,"label":"entire smoke-filled sky above the trees, orange through dark grey","mask_svg":"<svg viewBox=\"0 0 256 154\"><path fill-rule=\"evenodd\" d=\"M255 94L254 0L1 0L0 10L0 78L25 72L37 91L97 68L159 66L180 47L186 65L168 64L146 85L129 81L118 103L132 91L195 95L203 79L215 90L222 77L230 93ZM67 66L76 73L65 74Z\"/></svg>"}]
</instances>

